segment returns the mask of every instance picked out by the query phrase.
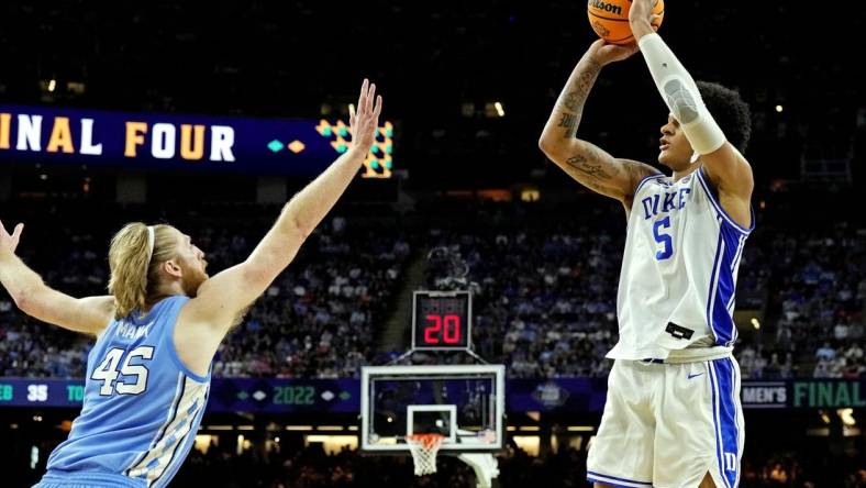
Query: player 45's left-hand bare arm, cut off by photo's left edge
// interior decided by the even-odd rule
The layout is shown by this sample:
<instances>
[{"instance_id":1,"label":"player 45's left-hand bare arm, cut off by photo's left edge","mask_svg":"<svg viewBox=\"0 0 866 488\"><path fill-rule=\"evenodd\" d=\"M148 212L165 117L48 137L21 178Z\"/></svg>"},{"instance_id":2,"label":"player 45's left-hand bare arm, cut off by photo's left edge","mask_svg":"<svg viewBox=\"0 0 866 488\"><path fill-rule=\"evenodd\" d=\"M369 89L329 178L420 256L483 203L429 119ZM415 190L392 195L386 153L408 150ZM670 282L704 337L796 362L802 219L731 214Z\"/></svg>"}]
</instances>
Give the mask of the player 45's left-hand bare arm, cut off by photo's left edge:
<instances>
[{"instance_id":1,"label":"player 45's left-hand bare arm, cut off by photo's left edge","mask_svg":"<svg viewBox=\"0 0 866 488\"><path fill-rule=\"evenodd\" d=\"M0 222L0 281L21 311L70 331L99 334L114 314L114 297L73 298L46 286L15 255L24 224L10 235Z\"/></svg>"}]
</instances>

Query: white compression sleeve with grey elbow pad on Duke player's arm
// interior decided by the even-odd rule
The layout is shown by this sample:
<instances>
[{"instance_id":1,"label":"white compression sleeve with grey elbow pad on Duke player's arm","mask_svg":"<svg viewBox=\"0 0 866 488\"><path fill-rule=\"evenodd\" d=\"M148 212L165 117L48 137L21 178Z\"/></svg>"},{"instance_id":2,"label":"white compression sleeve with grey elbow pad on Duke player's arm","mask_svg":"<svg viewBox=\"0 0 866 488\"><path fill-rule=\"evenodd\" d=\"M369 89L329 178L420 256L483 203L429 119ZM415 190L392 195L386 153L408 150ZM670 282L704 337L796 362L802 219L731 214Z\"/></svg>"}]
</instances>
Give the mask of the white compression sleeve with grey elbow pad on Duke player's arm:
<instances>
[{"instance_id":1,"label":"white compression sleeve with grey elbow pad on Duke player's arm","mask_svg":"<svg viewBox=\"0 0 866 488\"><path fill-rule=\"evenodd\" d=\"M682 127L691 148L709 154L725 143L725 136L703 104L698 86L658 34L637 42L658 92Z\"/></svg>"}]
</instances>

